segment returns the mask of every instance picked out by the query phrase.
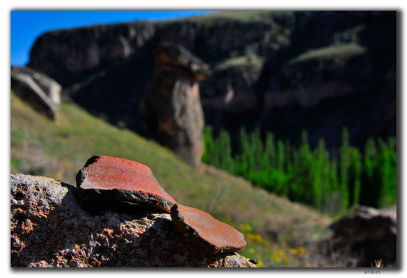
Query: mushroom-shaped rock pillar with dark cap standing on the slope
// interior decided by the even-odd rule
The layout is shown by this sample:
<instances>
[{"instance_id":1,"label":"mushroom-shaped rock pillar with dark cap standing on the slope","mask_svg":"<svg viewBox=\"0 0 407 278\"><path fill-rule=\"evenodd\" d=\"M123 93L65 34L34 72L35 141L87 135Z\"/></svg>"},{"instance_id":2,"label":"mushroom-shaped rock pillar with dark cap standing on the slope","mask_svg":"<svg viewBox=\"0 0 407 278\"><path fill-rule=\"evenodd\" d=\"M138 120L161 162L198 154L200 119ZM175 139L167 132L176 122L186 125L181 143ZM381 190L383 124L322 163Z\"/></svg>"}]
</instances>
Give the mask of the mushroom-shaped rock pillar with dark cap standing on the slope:
<instances>
[{"instance_id":1,"label":"mushroom-shaped rock pillar with dark cap standing on the slope","mask_svg":"<svg viewBox=\"0 0 407 278\"><path fill-rule=\"evenodd\" d=\"M147 136L199 166L204 116L198 81L211 74L209 66L177 44L161 44L155 58L159 69L143 100Z\"/></svg>"}]
</instances>

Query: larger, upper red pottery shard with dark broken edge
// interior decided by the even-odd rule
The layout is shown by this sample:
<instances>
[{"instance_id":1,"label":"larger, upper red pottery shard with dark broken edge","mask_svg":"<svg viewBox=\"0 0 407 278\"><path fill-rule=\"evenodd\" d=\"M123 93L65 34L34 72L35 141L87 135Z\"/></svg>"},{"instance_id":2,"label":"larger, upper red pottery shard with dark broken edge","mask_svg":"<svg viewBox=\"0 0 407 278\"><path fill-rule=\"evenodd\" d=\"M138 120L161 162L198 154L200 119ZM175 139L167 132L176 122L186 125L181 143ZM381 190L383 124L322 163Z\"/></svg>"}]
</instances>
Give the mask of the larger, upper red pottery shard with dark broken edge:
<instances>
[{"instance_id":1,"label":"larger, upper red pottery shard with dark broken edge","mask_svg":"<svg viewBox=\"0 0 407 278\"><path fill-rule=\"evenodd\" d=\"M154 178L149 167L111 156L93 156L77 174L75 197L83 201L145 204L170 212L177 202Z\"/></svg>"}]
</instances>

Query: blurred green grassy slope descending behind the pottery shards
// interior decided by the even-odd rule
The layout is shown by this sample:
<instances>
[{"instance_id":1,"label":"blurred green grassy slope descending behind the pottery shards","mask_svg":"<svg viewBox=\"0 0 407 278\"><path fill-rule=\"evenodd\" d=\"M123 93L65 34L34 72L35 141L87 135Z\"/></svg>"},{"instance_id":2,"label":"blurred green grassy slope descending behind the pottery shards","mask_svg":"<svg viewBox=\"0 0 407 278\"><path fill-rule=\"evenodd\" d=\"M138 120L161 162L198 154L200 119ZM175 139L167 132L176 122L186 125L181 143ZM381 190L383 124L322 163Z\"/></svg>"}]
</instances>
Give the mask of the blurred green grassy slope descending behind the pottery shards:
<instances>
[{"instance_id":1,"label":"blurred green grassy slope descending behind the pottery shards","mask_svg":"<svg viewBox=\"0 0 407 278\"><path fill-rule=\"evenodd\" d=\"M119 156L151 168L178 202L200 208L244 232L241 252L264 266L314 265L305 243L325 233L330 219L254 188L213 167L195 169L168 149L62 104L58 124L11 94L11 172L54 177L74 185L90 156ZM305 246L305 250L302 247Z\"/></svg>"}]
</instances>

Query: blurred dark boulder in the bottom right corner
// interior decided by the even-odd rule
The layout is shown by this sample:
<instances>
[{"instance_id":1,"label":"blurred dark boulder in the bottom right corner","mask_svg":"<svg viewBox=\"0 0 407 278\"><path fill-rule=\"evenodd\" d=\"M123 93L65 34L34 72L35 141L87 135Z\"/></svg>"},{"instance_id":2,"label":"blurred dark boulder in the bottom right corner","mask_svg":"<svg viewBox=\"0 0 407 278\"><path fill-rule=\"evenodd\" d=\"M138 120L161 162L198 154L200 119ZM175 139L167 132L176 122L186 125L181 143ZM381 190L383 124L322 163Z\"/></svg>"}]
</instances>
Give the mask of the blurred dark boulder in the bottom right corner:
<instances>
[{"instance_id":1,"label":"blurred dark boulder in the bottom right corner","mask_svg":"<svg viewBox=\"0 0 407 278\"><path fill-rule=\"evenodd\" d=\"M321 243L326 256L340 256L340 261L370 267L381 261L385 267L397 266L397 211L396 207L375 209L356 206L352 215L346 215L330 224L333 236Z\"/></svg>"}]
</instances>

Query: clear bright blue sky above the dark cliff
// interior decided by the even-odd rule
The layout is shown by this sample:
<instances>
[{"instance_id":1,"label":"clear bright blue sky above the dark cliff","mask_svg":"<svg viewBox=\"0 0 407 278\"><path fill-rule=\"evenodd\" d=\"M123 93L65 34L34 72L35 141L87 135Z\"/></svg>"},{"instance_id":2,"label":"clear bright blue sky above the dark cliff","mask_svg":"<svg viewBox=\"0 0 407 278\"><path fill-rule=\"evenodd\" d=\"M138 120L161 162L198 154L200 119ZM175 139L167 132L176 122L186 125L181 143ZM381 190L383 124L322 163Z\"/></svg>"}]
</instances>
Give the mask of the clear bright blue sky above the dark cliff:
<instances>
[{"instance_id":1,"label":"clear bright blue sky above the dark cliff","mask_svg":"<svg viewBox=\"0 0 407 278\"><path fill-rule=\"evenodd\" d=\"M211 11L203 10L12 10L10 15L10 62L24 66L36 38L47 31L93 24L164 20L190 17Z\"/></svg>"}]
</instances>

